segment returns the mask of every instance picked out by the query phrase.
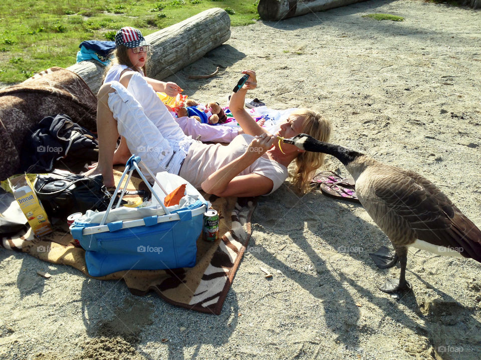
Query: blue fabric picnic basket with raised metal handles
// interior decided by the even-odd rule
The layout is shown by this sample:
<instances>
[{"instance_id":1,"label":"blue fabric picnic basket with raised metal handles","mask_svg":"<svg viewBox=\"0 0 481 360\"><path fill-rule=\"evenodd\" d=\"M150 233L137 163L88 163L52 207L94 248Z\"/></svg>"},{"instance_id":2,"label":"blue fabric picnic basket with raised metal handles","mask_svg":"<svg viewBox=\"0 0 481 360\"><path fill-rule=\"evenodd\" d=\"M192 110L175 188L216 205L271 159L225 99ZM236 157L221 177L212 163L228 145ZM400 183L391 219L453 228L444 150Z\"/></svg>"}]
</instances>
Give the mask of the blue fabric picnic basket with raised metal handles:
<instances>
[{"instance_id":1,"label":"blue fabric picnic basket with raised metal handles","mask_svg":"<svg viewBox=\"0 0 481 360\"><path fill-rule=\"evenodd\" d=\"M103 276L120 270L154 270L195 265L196 241L202 231L202 216L208 208L208 203L200 196L201 199L188 206L169 210L142 174L138 163L149 172L167 195L167 191L140 157L134 155L130 157L107 210L96 214L97 218L102 216L100 223L83 222L85 217L81 216L70 226L74 239L79 240L85 249L85 262L91 276ZM161 208L157 205L119 208L119 200L115 209L112 209L125 175L130 171L125 182L128 184L134 170L137 170L152 191ZM126 189L127 185L124 186L120 199ZM107 222L109 213L111 217L115 217L119 211L123 214L121 220ZM129 216L132 219L125 218Z\"/></svg>"}]
</instances>

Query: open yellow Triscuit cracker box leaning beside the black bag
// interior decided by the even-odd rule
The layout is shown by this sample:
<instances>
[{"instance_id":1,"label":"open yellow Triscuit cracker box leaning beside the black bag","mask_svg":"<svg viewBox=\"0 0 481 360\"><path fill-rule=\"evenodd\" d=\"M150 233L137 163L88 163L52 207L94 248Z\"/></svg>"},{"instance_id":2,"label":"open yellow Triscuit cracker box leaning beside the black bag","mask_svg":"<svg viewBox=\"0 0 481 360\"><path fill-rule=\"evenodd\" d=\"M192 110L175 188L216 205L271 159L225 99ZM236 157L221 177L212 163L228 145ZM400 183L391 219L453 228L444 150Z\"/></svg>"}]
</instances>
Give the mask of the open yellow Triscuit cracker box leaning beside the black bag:
<instances>
[{"instance_id":1,"label":"open yellow Triscuit cracker box leaning beside the black bag","mask_svg":"<svg viewBox=\"0 0 481 360\"><path fill-rule=\"evenodd\" d=\"M42 236L52 232L52 225L47 213L29 178L26 175L20 175L10 178L9 184L34 233L37 236Z\"/></svg>"}]
</instances>

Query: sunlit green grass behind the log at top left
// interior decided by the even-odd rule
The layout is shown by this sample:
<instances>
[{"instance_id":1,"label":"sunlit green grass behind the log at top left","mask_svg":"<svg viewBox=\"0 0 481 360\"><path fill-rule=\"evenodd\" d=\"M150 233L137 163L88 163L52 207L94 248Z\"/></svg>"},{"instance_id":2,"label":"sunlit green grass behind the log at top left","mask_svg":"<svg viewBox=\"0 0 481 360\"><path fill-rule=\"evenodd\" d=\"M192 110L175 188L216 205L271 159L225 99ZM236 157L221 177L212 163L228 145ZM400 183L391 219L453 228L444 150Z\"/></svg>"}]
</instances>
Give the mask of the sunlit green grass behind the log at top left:
<instances>
[{"instance_id":1,"label":"sunlit green grass behind the log at top left","mask_svg":"<svg viewBox=\"0 0 481 360\"><path fill-rule=\"evenodd\" d=\"M259 19L259 0L24 0L0 2L0 82L11 84L76 61L84 40L113 40L122 26L144 35L212 7L232 26ZM20 59L20 60L19 60Z\"/></svg>"}]
</instances>

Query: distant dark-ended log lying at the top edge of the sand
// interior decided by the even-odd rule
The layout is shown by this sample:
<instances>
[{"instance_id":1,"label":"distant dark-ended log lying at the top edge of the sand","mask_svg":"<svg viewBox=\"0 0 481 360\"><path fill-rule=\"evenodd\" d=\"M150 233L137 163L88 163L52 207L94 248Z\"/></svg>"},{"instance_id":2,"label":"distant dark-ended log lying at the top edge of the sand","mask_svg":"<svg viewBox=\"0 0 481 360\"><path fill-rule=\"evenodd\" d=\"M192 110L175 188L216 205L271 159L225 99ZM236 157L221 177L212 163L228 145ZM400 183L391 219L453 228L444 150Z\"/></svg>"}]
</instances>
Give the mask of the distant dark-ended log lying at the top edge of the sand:
<instances>
[{"instance_id":1,"label":"distant dark-ended log lying at the top edge of the sand","mask_svg":"<svg viewBox=\"0 0 481 360\"><path fill-rule=\"evenodd\" d=\"M261 0L257 11L264 20L282 20L366 0Z\"/></svg>"}]
</instances>

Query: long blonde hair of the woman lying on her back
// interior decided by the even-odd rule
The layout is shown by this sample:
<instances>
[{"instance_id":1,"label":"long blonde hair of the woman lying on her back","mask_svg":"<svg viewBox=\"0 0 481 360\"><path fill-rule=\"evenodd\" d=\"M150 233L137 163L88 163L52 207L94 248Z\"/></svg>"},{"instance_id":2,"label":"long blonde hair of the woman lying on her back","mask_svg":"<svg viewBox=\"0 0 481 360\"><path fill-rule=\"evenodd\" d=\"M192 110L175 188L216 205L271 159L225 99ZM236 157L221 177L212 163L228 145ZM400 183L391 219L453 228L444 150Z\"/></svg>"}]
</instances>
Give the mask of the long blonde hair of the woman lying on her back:
<instances>
[{"instance_id":1,"label":"long blonde hair of the woman lying on her back","mask_svg":"<svg viewBox=\"0 0 481 360\"><path fill-rule=\"evenodd\" d=\"M331 122L320 113L307 108L294 111L291 115L304 118L302 132L307 133L320 141L329 141L331 137ZM326 154L322 152L301 152L296 157L296 173L292 180L293 185L302 193L309 192L314 172L324 163Z\"/></svg>"}]
</instances>

